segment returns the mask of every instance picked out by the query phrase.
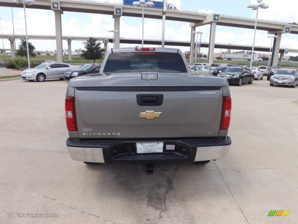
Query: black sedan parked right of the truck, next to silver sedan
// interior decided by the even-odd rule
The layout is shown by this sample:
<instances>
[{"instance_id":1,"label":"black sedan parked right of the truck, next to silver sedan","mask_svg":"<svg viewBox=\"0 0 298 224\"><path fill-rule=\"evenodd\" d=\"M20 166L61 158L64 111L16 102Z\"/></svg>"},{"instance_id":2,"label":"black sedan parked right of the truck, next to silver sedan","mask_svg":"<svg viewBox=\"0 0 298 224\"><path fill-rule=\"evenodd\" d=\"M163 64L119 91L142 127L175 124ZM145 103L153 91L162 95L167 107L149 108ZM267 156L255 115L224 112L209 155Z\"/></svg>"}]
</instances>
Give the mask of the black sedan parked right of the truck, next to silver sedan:
<instances>
[{"instance_id":1,"label":"black sedan parked right of the truck, next to silver sedan","mask_svg":"<svg viewBox=\"0 0 298 224\"><path fill-rule=\"evenodd\" d=\"M225 78L229 84L237 84L238 86L242 85L243 82L252 84L254 81L254 73L249 67L229 67L217 77Z\"/></svg>"}]
</instances>

